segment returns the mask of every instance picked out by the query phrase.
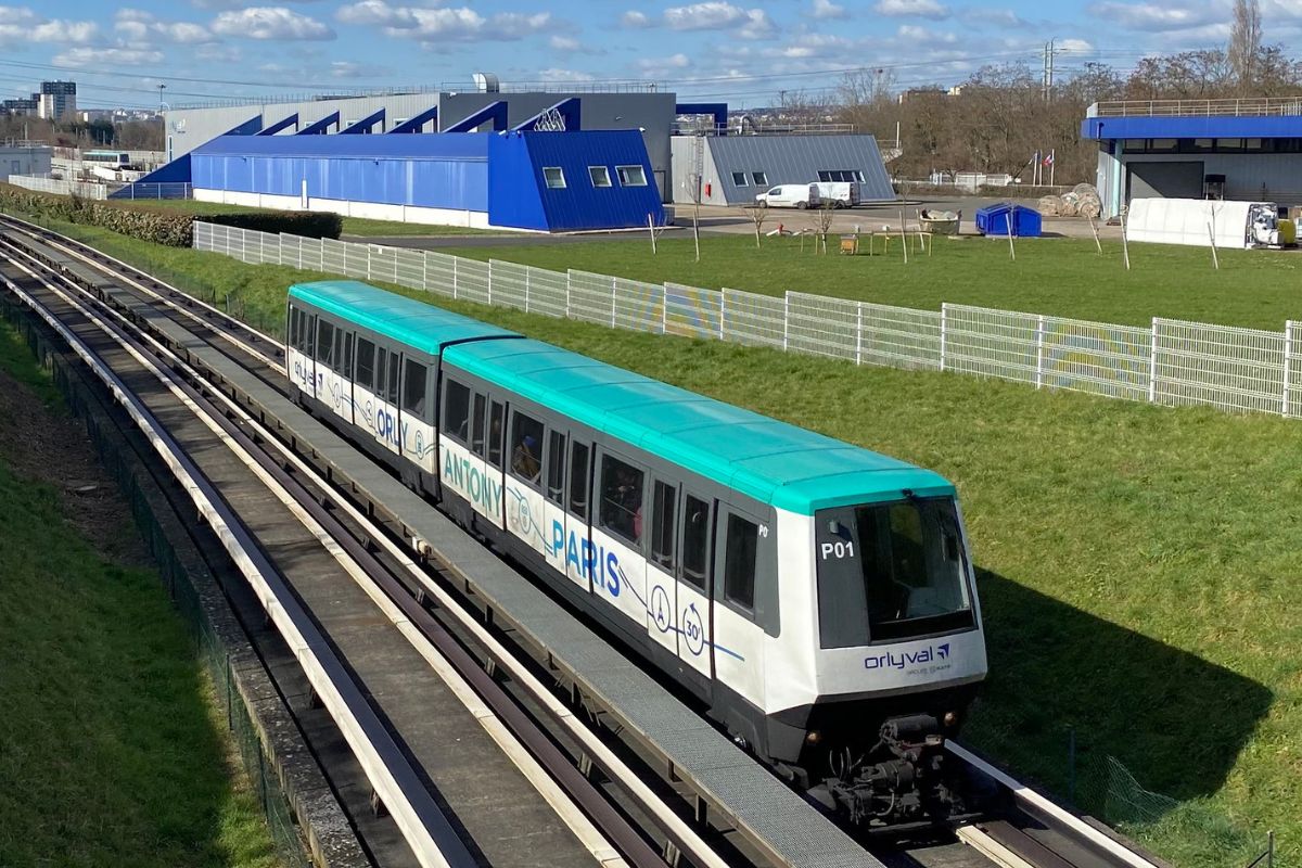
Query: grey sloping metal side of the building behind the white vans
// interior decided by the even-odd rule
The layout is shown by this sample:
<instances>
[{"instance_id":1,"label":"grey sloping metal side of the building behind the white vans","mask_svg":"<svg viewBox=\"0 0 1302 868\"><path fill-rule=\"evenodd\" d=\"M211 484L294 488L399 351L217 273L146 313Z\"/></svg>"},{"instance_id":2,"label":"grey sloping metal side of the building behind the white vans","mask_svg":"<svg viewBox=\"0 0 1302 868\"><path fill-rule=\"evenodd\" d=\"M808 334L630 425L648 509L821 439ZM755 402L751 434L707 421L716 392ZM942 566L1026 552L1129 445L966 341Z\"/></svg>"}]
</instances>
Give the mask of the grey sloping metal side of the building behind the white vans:
<instances>
[{"instance_id":1,"label":"grey sloping metal side of the building behind the white vans","mask_svg":"<svg viewBox=\"0 0 1302 868\"><path fill-rule=\"evenodd\" d=\"M845 169L863 173L859 199L896 198L878 141L871 135L710 135L704 141L727 202L751 202L756 193L754 186L733 183L733 172L763 172L768 185L776 186L811 183L820 170Z\"/></svg>"}]
</instances>

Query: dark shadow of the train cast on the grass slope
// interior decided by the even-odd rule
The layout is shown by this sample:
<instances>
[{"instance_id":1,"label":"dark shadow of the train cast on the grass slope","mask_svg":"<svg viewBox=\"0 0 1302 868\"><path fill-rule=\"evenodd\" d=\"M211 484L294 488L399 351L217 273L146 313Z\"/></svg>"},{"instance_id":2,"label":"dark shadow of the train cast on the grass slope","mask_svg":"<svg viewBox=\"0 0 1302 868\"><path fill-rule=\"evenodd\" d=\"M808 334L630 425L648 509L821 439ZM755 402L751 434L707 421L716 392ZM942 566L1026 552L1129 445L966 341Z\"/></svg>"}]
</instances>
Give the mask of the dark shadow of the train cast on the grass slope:
<instances>
[{"instance_id":1,"label":"dark shadow of the train cast on the grass slope","mask_svg":"<svg viewBox=\"0 0 1302 868\"><path fill-rule=\"evenodd\" d=\"M1115 813L1109 755L1147 790L1212 795L1269 709L1263 685L1001 575L978 592L991 675L965 738L1082 809Z\"/></svg>"}]
</instances>

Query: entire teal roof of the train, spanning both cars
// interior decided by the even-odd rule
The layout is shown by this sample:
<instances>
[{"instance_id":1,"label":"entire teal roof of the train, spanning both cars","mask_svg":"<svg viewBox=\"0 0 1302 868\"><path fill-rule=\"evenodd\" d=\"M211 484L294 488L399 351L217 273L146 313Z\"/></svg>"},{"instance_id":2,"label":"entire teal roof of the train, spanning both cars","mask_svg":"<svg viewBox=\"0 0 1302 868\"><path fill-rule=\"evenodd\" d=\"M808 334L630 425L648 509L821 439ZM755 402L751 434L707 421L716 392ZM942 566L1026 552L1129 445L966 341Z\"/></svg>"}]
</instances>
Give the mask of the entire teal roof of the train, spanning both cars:
<instances>
[{"instance_id":1,"label":"entire teal roof of the train, spanning both cars","mask_svg":"<svg viewBox=\"0 0 1302 868\"><path fill-rule=\"evenodd\" d=\"M447 344L450 334L516 337L353 281L301 285L292 294L435 354L441 346L428 347ZM401 324L372 324L387 311L402 316ZM426 328L431 332L413 333ZM811 515L831 506L898 500L906 489L919 497L954 492L928 470L542 341L475 341L447 347L443 355L590 428L789 511Z\"/></svg>"}]
</instances>

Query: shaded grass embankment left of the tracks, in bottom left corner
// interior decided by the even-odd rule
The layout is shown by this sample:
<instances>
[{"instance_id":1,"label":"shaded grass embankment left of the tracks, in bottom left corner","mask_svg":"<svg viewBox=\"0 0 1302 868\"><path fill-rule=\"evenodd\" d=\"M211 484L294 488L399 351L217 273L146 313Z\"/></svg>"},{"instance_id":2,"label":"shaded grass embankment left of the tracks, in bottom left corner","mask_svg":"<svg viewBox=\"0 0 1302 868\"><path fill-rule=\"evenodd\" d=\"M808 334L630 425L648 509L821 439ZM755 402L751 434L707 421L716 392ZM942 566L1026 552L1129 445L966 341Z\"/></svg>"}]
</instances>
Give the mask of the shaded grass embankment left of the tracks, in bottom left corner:
<instances>
[{"instance_id":1,"label":"shaded grass embankment left of the tracks, in bottom left corner","mask_svg":"<svg viewBox=\"0 0 1302 868\"><path fill-rule=\"evenodd\" d=\"M66 413L3 324L0 370ZM167 590L62 510L0 444L0 864L279 864Z\"/></svg>"}]
</instances>

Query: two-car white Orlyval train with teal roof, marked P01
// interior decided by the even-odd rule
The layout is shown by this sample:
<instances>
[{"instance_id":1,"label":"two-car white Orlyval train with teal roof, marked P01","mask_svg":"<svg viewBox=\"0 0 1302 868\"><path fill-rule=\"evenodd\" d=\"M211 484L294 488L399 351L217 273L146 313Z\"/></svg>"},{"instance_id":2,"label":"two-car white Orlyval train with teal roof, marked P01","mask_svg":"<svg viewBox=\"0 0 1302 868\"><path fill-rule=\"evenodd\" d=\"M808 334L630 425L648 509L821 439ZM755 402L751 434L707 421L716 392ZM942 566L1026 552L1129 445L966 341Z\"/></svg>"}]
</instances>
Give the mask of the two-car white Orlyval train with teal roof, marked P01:
<instances>
[{"instance_id":1,"label":"two-car white Orlyval train with teal roof, marked P01","mask_svg":"<svg viewBox=\"0 0 1302 868\"><path fill-rule=\"evenodd\" d=\"M987 675L940 475L357 281L289 289L286 376L828 809L960 809Z\"/></svg>"}]
</instances>

